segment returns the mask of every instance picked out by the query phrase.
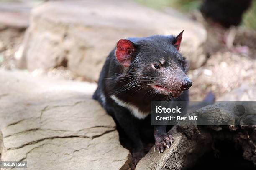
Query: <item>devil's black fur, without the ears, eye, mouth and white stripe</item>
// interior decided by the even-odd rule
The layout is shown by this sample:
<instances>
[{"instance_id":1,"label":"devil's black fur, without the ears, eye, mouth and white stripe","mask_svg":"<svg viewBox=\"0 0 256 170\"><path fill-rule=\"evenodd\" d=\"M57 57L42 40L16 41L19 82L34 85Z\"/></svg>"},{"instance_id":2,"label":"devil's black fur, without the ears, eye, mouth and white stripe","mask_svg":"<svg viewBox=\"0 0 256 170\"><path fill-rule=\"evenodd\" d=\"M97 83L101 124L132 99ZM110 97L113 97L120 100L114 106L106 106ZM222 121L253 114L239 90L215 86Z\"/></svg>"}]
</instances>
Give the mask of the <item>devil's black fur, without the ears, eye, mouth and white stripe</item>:
<instances>
[{"instance_id":1,"label":"devil's black fur, without the ears, eye, mouth and white stripe","mask_svg":"<svg viewBox=\"0 0 256 170\"><path fill-rule=\"evenodd\" d=\"M147 136L148 131L149 136L153 137L150 118L149 116L145 119L134 117L127 108L115 103L110 96L115 95L118 99L138 107L142 112L151 111L151 101L188 101L188 91L184 91L178 98L173 98L172 94L160 94L151 87L153 83L167 86L172 77L176 77L177 81L179 78L184 78L180 76L184 76L187 72L188 63L174 47L174 36L156 35L128 40L132 41L136 48L130 66L123 67L117 61L116 48L110 52L102 68L98 88L93 98L100 102L108 114L114 118L118 127L126 133L136 152L143 150L142 140ZM152 63L159 62L160 58L166 61L163 65L164 73L151 67ZM102 100L102 95L105 96L105 100ZM161 135L167 135L165 128L155 127L155 132L159 131Z\"/></svg>"}]
</instances>

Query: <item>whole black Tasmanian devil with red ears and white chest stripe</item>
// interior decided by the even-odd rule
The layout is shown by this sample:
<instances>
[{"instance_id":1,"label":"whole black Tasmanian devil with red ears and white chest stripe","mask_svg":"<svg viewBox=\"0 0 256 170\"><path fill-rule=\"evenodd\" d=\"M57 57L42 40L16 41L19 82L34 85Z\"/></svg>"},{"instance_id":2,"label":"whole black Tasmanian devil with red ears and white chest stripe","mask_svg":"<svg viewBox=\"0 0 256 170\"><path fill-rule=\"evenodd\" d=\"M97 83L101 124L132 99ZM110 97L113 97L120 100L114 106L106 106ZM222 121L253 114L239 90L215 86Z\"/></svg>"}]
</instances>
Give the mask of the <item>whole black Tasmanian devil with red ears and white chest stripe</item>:
<instances>
[{"instance_id":1,"label":"whole black Tasmanian devil with red ears and white chest stripe","mask_svg":"<svg viewBox=\"0 0 256 170\"><path fill-rule=\"evenodd\" d=\"M93 98L132 141L135 157L143 150L140 124L151 112L151 101L189 100L186 90L192 82L186 75L188 62L179 53L182 33L177 37L154 35L121 39L100 73ZM146 128L151 126L150 119L148 121ZM154 138L159 153L173 142L166 126L154 126Z\"/></svg>"}]
</instances>

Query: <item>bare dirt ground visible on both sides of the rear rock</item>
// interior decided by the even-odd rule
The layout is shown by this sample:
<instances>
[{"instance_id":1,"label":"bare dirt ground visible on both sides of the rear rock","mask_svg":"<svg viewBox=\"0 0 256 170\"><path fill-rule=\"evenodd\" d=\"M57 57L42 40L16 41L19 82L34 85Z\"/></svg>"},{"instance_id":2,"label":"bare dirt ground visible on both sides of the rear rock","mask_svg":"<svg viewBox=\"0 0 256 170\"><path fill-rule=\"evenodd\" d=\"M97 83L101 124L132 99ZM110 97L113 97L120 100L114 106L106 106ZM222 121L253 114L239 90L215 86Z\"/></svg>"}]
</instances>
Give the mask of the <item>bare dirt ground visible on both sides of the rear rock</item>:
<instances>
[{"instance_id":1,"label":"bare dirt ground visible on both sides of the rear rock","mask_svg":"<svg viewBox=\"0 0 256 170\"><path fill-rule=\"evenodd\" d=\"M209 56L207 62L202 67L188 72L193 82L190 88L190 100L200 101L210 91L218 98L243 83L256 84L256 32L244 28L236 29L235 36L231 34L233 45L227 47L227 43L221 38L230 36L230 30L216 29L208 29L208 40L205 45ZM18 53L23 36L24 30L12 28L0 30L0 67L7 70L16 68L15 55ZM37 69L32 73L84 80L65 67L52 68L48 71Z\"/></svg>"}]
</instances>

